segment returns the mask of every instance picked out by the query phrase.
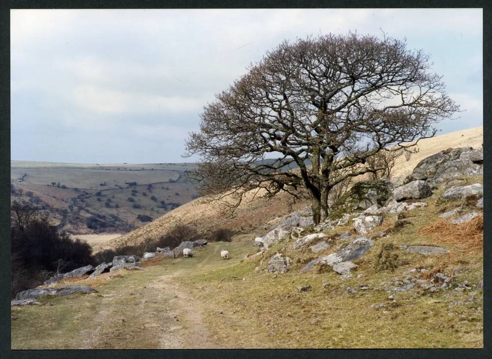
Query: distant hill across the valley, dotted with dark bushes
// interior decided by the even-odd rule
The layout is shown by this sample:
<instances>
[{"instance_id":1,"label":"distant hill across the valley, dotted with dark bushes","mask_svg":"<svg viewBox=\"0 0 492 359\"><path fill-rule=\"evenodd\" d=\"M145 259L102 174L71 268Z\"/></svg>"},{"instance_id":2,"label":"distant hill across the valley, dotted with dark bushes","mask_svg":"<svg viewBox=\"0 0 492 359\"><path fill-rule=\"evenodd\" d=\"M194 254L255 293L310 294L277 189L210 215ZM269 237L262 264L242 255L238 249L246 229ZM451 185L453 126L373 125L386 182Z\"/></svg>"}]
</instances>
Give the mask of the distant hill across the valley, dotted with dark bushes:
<instances>
[{"instance_id":1,"label":"distant hill across the valley, dotted with dark bushes","mask_svg":"<svg viewBox=\"0 0 492 359\"><path fill-rule=\"evenodd\" d=\"M193 163L10 162L11 202L25 201L71 234L122 233L198 197Z\"/></svg>"}]
</instances>

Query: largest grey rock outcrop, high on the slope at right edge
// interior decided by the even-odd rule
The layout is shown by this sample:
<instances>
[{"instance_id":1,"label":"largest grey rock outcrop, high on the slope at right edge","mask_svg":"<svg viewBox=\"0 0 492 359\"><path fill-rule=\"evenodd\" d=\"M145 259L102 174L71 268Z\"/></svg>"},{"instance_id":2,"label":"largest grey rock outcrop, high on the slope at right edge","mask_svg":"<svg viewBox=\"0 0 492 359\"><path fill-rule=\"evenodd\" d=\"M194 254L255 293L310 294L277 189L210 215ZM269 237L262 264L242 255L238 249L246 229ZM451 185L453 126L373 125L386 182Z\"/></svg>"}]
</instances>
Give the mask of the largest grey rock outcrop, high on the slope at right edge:
<instances>
[{"instance_id":1,"label":"largest grey rock outcrop, high on the slope at right edge","mask_svg":"<svg viewBox=\"0 0 492 359\"><path fill-rule=\"evenodd\" d=\"M426 180L432 187L454 177L483 175L483 150L448 149L424 158L404 183Z\"/></svg>"}]
</instances>

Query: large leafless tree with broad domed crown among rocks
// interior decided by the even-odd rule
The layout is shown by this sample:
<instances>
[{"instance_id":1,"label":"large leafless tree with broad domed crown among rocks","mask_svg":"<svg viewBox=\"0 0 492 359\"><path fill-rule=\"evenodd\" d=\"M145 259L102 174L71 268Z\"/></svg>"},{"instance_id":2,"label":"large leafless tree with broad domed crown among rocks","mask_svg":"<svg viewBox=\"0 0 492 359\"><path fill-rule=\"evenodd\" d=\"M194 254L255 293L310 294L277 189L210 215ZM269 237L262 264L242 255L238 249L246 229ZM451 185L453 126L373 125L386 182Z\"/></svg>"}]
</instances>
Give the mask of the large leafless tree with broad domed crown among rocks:
<instances>
[{"instance_id":1,"label":"large leafless tree with broad domed crown among rocks","mask_svg":"<svg viewBox=\"0 0 492 359\"><path fill-rule=\"evenodd\" d=\"M319 223L334 186L382 169L367 166L369 157L415 146L459 110L429 56L386 36L284 41L248 70L204 108L186 142L185 155L202 158L193 175L201 194L227 193L232 209L247 193L307 192ZM291 165L299 169L282 171Z\"/></svg>"}]
</instances>

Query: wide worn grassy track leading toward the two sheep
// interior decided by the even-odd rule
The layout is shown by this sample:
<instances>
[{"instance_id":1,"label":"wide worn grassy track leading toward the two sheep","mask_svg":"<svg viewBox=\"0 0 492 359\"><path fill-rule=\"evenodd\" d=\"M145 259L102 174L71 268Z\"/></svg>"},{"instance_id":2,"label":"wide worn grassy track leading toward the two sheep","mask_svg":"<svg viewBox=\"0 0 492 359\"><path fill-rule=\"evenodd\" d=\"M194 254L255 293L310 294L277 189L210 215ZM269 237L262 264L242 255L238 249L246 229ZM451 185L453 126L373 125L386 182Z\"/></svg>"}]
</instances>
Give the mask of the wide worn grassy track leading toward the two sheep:
<instances>
[{"instance_id":1,"label":"wide worn grassy track leading toward the two sheep","mask_svg":"<svg viewBox=\"0 0 492 359\"><path fill-rule=\"evenodd\" d=\"M223 261L222 248L233 248L238 256ZM182 279L232 266L247 249L243 243L212 243L195 250L193 258L166 260L145 272L123 271L122 277L97 286L96 294L44 298L41 306L14 307L12 348L226 347L213 340L203 322L203 311L214 304L194 298Z\"/></svg>"}]
</instances>

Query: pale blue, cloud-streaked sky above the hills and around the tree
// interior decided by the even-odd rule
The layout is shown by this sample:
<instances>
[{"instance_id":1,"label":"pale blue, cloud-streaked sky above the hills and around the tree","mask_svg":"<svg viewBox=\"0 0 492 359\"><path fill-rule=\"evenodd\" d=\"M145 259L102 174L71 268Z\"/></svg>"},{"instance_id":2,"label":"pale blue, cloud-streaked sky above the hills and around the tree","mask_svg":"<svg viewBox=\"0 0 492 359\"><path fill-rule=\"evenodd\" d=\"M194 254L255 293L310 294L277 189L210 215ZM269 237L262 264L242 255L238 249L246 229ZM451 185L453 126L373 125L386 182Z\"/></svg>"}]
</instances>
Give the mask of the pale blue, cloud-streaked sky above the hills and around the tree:
<instances>
[{"instance_id":1,"label":"pale blue, cloud-streaked sky above the hills and around the tree","mask_svg":"<svg viewBox=\"0 0 492 359\"><path fill-rule=\"evenodd\" d=\"M199 114L284 39L357 31L406 38L483 124L481 9L11 10L11 159L193 162Z\"/></svg>"}]
</instances>

